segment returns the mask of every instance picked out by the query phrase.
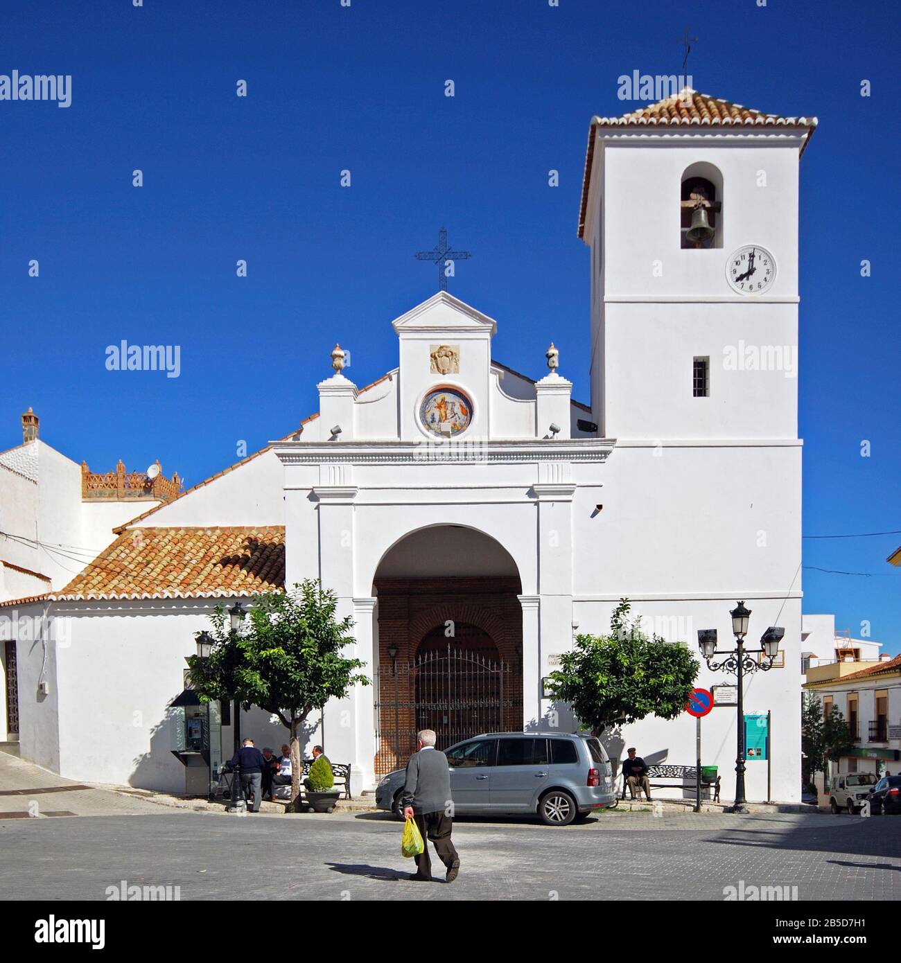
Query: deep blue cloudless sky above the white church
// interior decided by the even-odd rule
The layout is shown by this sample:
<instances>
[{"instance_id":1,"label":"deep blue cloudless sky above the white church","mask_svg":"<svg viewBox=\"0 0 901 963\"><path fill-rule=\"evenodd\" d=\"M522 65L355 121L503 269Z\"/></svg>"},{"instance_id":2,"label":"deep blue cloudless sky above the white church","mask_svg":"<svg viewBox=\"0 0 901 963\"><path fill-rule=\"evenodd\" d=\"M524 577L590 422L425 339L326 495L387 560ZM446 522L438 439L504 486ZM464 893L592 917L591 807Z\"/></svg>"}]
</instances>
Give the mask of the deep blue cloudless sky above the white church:
<instances>
[{"instance_id":1,"label":"deep blue cloudless sky above the white church","mask_svg":"<svg viewBox=\"0 0 901 963\"><path fill-rule=\"evenodd\" d=\"M621 74L680 72L686 26L698 90L820 119L801 170L804 533L901 529L901 24L876 2L5 0L0 73L73 79L67 109L0 101L0 448L31 404L95 470L159 457L201 481L316 410L335 340L358 384L396 364L389 322L434 293L412 255L442 224L472 252L450 290L498 320L494 356L541 377L552 338L588 400L588 122L623 113ZM180 345L180 377L108 372L122 339ZM901 650L899 544L808 538L805 611Z\"/></svg>"}]
</instances>

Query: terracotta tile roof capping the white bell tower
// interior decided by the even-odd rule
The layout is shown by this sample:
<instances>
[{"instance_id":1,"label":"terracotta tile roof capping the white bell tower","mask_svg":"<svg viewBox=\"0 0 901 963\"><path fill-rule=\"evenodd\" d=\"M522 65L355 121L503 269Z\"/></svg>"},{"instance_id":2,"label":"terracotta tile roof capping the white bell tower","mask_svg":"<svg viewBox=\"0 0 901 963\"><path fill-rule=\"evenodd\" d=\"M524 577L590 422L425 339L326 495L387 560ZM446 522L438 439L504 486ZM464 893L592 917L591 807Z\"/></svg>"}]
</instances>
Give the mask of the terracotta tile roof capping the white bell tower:
<instances>
[{"instance_id":1,"label":"terracotta tile roof capping the white bell tower","mask_svg":"<svg viewBox=\"0 0 901 963\"><path fill-rule=\"evenodd\" d=\"M808 134L801 145L803 154L817 124L816 117L782 117L764 114L729 100L711 97L706 93L686 87L671 97L658 100L622 117L592 117L588 131L588 149L585 153L585 174L582 178L582 203L579 208L579 237L585 230L585 212L588 208L588 188L591 181L592 162L595 154L595 133L599 127L641 126L727 126L727 127L807 127ZM799 154L800 156L800 154Z\"/></svg>"}]
</instances>

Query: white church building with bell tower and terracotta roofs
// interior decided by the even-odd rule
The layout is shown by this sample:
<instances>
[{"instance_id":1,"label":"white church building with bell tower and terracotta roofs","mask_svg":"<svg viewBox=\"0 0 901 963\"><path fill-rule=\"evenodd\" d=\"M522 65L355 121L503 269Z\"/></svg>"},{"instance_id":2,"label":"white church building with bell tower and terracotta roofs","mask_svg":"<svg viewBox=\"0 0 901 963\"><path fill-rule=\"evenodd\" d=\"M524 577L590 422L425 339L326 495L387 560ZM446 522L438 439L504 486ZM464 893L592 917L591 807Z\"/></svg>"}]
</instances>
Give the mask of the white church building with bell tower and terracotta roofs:
<instances>
[{"instance_id":1,"label":"white church building with bell tower and terracotta roofs","mask_svg":"<svg viewBox=\"0 0 901 963\"><path fill-rule=\"evenodd\" d=\"M571 729L543 679L574 635L609 629L623 597L701 662L698 630L730 646L744 600L751 647L785 630L775 666L746 680L746 713L770 718L748 799L798 800L798 198L815 123L695 91L595 117L578 228L592 255L589 403L571 397L575 359L537 344L529 375L512 371L491 344L516 317L446 292L393 321L398 365L373 384L345 377L336 349L295 434L119 525L66 586L0 605L13 632L40 622L16 641L21 755L184 792L172 701L195 633L215 605L307 577L354 617L374 681L310 732L352 764L355 794L403 765L417 728L445 746ZM697 685L731 681L702 663ZM214 762L230 754L227 721ZM735 724L729 705L702 720L724 799ZM286 735L258 710L242 731L258 746ZM692 766L695 737L686 714L605 741L616 758L635 745Z\"/></svg>"}]
</instances>

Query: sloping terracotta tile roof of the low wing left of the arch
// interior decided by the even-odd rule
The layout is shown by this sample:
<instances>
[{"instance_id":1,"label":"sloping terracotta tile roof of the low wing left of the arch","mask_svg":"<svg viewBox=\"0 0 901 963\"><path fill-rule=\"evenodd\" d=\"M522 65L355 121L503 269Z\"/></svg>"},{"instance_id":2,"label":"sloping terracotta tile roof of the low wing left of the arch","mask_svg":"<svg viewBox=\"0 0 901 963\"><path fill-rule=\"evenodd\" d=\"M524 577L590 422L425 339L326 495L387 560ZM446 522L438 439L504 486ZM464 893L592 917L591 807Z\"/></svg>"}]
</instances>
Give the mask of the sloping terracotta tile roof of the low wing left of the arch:
<instances>
[{"instance_id":1,"label":"sloping terracotta tile roof of the low wing left of the arch","mask_svg":"<svg viewBox=\"0 0 901 963\"><path fill-rule=\"evenodd\" d=\"M120 534L53 599L205 598L284 587L284 528L142 528Z\"/></svg>"}]
</instances>

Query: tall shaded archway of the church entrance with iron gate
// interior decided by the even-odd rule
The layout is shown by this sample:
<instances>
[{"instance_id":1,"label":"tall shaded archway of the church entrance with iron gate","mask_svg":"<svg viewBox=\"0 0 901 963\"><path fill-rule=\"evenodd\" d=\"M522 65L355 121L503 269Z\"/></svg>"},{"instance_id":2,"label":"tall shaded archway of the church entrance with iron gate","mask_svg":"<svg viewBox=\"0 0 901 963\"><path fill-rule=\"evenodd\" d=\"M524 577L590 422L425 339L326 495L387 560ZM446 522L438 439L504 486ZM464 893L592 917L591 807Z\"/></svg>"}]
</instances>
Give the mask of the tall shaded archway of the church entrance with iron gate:
<instances>
[{"instance_id":1,"label":"tall shaded archway of the church entrance with iron gate","mask_svg":"<svg viewBox=\"0 0 901 963\"><path fill-rule=\"evenodd\" d=\"M522 728L522 611L516 564L460 526L408 535L379 565L377 774L403 766L416 733L438 748Z\"/></svg>"}]
</instances>

